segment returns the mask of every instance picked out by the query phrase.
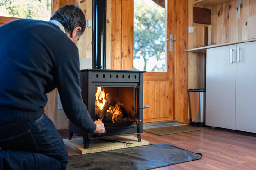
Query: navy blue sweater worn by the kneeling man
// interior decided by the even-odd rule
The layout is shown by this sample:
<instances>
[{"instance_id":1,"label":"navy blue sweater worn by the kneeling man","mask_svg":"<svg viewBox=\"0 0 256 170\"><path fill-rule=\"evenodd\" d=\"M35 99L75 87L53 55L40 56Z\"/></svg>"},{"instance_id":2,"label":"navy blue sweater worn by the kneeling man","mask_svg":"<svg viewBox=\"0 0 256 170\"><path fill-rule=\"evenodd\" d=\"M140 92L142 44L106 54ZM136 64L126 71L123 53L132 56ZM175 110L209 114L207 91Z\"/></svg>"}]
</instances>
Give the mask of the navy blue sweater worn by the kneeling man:
<instances>
[{"instance_id":1,"label":"navy blue sweater worn by the kneeling man","mask_svg":"<svg viewBox=\"0 0 256 170\"><path fill-rule=\"evenodd\" d=\"M39 118L46 93L57 87L68 119L94 132L79 73L78 49L58 26L30 19L0 26L0 120Z\"/></svg>"}]
</instances>

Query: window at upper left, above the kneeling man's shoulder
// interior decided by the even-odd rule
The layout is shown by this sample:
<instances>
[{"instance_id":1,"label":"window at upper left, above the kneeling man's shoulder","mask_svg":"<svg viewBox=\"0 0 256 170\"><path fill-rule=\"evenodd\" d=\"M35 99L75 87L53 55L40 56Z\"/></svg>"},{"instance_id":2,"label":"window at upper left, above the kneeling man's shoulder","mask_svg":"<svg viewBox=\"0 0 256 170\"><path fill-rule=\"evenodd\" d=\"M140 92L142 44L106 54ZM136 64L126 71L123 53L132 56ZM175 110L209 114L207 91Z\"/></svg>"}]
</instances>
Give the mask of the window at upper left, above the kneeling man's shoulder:
<instances>
[{"instance_id":1,"label":"window at upper left, above the kneeling man's shoulder","mask_svg":"<svg viewBox=\"0 0 256 170\"><path fill-rule=\"evenodd\" d=\"M49 21L52 0L0 0L0 16Z\"/></svg>"}]
</instances>

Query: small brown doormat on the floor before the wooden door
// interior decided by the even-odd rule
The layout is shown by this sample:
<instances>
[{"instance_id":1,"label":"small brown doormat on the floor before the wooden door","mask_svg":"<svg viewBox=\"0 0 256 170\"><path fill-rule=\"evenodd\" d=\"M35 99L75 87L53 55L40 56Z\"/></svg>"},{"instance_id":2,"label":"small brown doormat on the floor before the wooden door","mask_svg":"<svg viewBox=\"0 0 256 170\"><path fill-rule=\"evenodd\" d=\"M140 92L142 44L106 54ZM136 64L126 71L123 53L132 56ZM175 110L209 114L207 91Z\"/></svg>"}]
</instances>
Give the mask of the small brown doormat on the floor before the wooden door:
<instances>
[{"instance_id":1,"label":"small brown doormat on the floor before the wooden door","mask_svg":"<svg viewBox=\"0 0 256 170\"><path fill-rule=\"evenodd\" d=\"M169 135L176 133L185 133L192 131L199 131L200 129L193 127L191 125L179 125L179 126L171 126L171 127L158 127L151 129L143 129L145 132L149 132L155 135Z\"/></svg>"}]
</instances>

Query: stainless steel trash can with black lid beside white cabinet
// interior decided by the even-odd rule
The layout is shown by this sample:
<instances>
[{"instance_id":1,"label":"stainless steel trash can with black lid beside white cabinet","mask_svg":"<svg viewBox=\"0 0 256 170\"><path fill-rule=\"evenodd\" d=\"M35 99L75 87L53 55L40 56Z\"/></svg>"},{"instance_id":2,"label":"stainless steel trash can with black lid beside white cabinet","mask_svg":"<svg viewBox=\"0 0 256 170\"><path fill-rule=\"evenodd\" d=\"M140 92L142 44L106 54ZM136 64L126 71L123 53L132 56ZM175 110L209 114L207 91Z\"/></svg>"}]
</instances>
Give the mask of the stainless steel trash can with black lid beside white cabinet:
<instances>
[{"instance_id":1,"label":"stainless steel trash can with black lid beside white cabinet","mask_svg":"<svg viewBox=\"0 0 256 170\"><path fill-rule=\"evenodd\" d=\"M189 89L190 124L205 126L205 89Z\"/></svg>"}]
</instances>

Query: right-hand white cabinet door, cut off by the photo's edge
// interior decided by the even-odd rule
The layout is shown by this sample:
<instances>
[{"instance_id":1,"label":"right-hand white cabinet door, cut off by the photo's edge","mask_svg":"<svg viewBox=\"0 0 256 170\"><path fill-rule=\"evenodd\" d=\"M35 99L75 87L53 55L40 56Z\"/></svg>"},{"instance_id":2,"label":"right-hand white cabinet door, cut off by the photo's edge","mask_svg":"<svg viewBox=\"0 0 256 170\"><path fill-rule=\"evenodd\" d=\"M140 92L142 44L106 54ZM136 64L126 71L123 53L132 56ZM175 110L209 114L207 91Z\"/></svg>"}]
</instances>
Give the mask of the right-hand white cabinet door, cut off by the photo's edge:
<instances>
[{"instance_id":1,"label":"right-hand white cabinet door, cut off by the photo's edge","mask_svg":"<svg viewBox=\"0 0 256 170\"><path fill-rule=\"evenodd\" d=\"M256 42L240 43L237 48L235 128L256 133Z\"/></svg>"}]
</instances>

